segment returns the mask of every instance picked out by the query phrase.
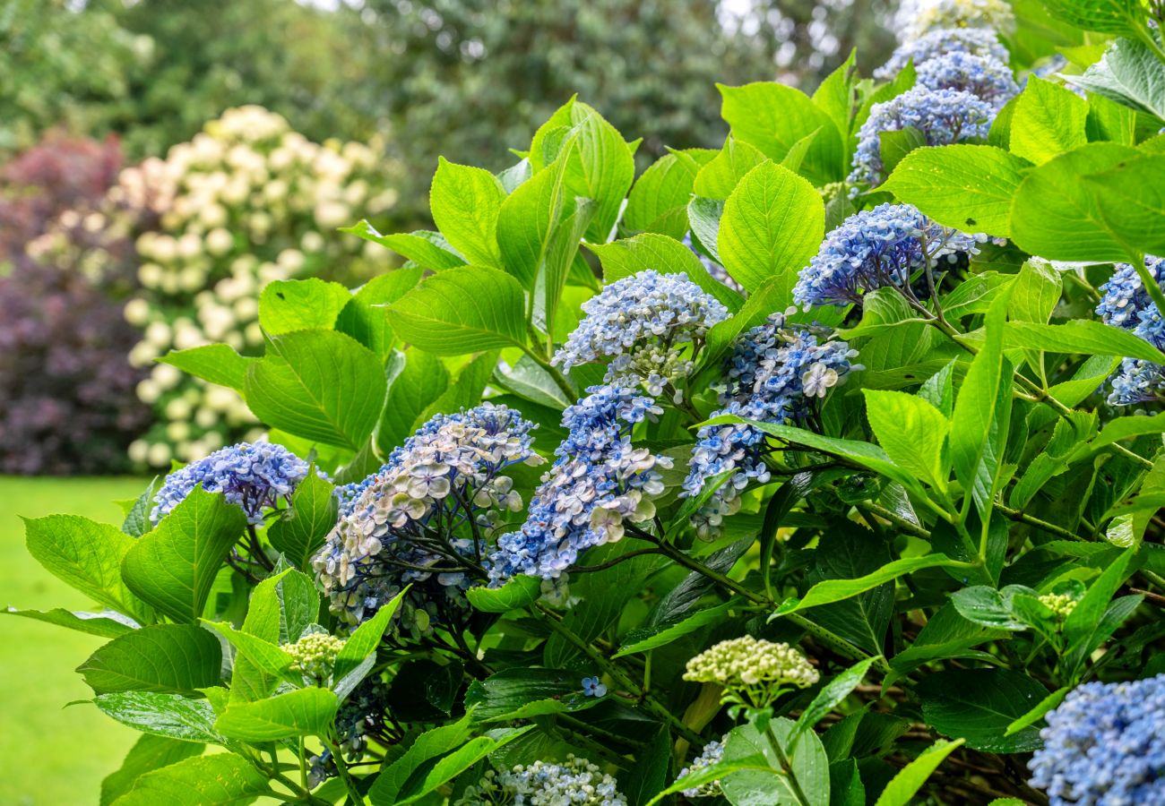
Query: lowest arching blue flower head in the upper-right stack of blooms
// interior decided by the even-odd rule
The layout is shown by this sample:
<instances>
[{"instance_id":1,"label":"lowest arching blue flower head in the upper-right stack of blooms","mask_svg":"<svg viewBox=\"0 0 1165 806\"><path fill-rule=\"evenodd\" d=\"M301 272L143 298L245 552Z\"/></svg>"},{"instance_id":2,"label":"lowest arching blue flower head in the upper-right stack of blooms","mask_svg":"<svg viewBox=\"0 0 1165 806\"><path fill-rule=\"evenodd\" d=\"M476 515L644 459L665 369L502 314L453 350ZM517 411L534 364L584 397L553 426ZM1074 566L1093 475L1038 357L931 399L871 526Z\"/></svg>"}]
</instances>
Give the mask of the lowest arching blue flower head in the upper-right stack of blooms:
<instances>
[{"instance_id":1,"label":"lowest arching blue flower head in the upper-right stack of blooms","mask_svg":"<svg viewBox=\"0 0 1165 806\"><path fill-rule=\"evenodd\" d=\"M857 133L850 184L877 186L885 179L882 165L883 132L912 127L927 146L949 146L969 139L986 139L995 107L963 90L930 90L916 86L883 104L875 104Z\"/></svg>"}]
</instances>

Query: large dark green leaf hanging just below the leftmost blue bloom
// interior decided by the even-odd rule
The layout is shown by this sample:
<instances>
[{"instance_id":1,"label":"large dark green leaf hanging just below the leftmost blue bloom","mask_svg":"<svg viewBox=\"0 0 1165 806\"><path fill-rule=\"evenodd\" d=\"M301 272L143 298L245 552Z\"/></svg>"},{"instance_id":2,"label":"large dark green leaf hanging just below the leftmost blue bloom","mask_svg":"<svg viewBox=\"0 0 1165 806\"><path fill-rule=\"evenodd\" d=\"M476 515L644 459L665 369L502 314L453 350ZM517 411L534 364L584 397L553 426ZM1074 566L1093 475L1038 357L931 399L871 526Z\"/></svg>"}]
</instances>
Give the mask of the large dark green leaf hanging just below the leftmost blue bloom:
<instances>
[{"instance_id":1,"label":"large dark green leaf hanging just below the leftmost blue bloom","mask_svg":"<svg viewBox=\"0 0 1165 806\"><path fill-rule=\"evenodd\" d=\"M195 623L219 566L246 525L239 507L199 485L126 552L121 563L126 585L160 613Z\"/></svg>"}]
</instances>

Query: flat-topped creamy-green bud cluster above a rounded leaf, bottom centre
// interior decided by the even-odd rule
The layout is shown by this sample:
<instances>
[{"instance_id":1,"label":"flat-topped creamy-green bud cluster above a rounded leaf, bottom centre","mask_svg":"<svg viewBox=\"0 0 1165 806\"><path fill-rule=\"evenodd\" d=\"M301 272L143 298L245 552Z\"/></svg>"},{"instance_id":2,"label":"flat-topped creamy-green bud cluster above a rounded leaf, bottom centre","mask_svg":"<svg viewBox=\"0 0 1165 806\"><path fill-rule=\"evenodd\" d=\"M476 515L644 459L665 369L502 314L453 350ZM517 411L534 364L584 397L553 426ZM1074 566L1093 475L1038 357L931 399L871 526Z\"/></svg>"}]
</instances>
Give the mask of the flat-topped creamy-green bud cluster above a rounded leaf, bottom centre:
<instances>
[{"instance_id":1,"label":"flat-topped creamy-green bud cluster above a rounded leaf, bottom centre","mask_svg":"<svg viewBox=\"0 0 1165 806\"><path fill-rule=\"evenodd\" d=\"M721 641L689 660L684 679L722 686L725 702L764 708L785 688L806 688L820 676L809 659L789 644L746 635Z\"/></svg>"}]
</instances>

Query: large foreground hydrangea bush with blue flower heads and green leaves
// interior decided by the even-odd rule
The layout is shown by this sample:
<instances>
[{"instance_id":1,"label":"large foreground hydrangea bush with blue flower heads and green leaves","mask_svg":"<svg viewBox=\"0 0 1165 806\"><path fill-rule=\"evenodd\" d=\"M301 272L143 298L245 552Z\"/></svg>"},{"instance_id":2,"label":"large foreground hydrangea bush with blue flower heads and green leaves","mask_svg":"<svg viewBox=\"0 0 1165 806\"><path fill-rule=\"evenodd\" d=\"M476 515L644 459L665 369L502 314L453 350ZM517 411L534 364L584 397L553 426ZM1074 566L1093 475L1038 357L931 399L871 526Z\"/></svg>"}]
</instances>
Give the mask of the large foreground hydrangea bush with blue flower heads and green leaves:
<instances>
[{"instance_id":1,"label":"large foreground hydrangea bush with blue flower heads and green leaves","mask_svg":"<svg viewBox=\"0 0 1165 806\"><path fill-rule=\"evenodd\" d=\"M98 607L14 611L110 639L103 801L1165 801L1165 62L1101 7L925 5L638 177L571 100L167 353L262 439L29 521Z\"/></svg>"}]
</instances>

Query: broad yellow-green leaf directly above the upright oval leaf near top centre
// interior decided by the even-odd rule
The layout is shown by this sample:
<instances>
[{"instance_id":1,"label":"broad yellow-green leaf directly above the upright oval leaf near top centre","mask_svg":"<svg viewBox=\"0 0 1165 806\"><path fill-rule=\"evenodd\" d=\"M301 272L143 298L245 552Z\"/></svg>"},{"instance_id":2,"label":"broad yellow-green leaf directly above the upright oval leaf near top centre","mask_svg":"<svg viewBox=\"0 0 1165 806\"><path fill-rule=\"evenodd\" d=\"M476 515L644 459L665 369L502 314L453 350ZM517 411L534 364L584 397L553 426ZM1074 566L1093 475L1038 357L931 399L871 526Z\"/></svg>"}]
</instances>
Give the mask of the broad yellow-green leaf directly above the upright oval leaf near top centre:
<instances>
[{"instance_id":1,"label":"broad yellow-green leaf directly above the upright oval leaf near top centre","mask_svg":"<svg viewBox=\"0 0 1165 806\"><path fill-rule=\"evenodd\" d=\"M716 89L723 98L720 114L736 140L779 161L798 140L820 129L805 155L800 174L813 184L842 178L846 167L841 133L832 118L805 93L768 82L739 87L718 84Z\"/></svg>"}]
</instances>

